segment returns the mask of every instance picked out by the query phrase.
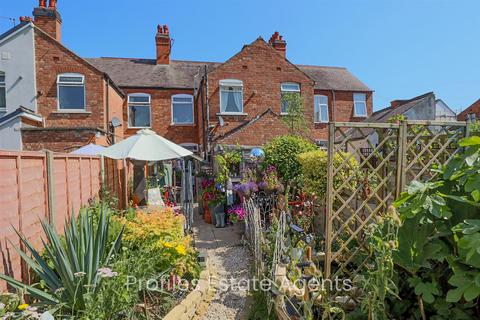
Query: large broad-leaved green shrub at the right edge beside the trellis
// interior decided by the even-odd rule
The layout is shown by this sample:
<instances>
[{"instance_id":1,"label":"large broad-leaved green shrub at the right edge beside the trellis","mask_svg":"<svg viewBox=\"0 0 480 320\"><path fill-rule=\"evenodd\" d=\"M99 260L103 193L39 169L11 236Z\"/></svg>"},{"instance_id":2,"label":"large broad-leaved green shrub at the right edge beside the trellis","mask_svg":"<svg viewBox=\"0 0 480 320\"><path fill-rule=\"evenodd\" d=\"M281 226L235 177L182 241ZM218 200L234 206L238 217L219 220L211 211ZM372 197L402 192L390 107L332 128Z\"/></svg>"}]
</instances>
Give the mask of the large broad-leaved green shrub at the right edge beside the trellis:
<instances>
[{"instance_id":1,"label":"large broad-leaved green shrub at the right edge beside the trellis","mask_svg":"<svg viewBox=\"0 0 480 320\"><path fill-rule=\"evenodd\" d=\"M421 309L429 319L478 316L480 137L460 146L464 152L438 168L435 179L413 181L396 202L403 220L394 256L403 287L397 319Z\"/></svg>"}]
</instances>

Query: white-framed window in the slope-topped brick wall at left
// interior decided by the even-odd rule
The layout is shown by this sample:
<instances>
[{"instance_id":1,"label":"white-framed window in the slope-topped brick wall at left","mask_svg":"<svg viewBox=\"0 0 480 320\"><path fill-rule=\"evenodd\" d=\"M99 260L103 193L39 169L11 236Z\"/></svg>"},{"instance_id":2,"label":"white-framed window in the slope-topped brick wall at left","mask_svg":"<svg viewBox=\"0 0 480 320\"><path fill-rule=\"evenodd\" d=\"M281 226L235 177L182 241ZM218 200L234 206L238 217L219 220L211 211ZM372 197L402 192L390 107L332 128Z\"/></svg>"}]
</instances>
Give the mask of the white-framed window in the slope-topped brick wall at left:
<instances>
[{"instance_id":1,"label":"white-framed window in the slope-topped brick wall at left","mask_svg":"<svg viewBox=\"0 0 480 320\"><path fill-rule=\"evenodd\" d=\"M63 73L57 78L58 109L85 110L85 77L77 73Z\"/></svg>"}]
</instances>

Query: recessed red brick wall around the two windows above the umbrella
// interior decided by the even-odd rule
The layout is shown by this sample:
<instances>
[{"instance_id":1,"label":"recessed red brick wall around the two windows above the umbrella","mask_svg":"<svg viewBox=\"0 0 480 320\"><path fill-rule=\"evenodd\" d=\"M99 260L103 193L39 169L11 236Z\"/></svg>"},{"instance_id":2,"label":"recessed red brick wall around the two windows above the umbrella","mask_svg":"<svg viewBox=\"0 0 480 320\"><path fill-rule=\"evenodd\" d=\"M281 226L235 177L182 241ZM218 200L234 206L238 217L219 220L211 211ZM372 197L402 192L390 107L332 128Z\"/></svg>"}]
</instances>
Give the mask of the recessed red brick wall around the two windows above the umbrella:
<instances>
[{"instance_id":1,"label":"recessed red brick wall around the two windows above the umbrella","mask_svg":"<svg viewBox=\"0 0 480 320\"><path fill-rule=\"evenodd\" d=\"M189 89L132 89L123 88L125 94L132 93L147 93L151 97L150 113L152 130L157 134L175 142L175 143L199 143L198 142L198 121L195 115L197 114L197 107L194 106L193 125L172 125L172 99L175 94L191 94L193 90ZM125 128L125 136L134 135L139 129L128 128L128 106L127 99L123 108L123 120Z\"/></svg>"}]
</instances>

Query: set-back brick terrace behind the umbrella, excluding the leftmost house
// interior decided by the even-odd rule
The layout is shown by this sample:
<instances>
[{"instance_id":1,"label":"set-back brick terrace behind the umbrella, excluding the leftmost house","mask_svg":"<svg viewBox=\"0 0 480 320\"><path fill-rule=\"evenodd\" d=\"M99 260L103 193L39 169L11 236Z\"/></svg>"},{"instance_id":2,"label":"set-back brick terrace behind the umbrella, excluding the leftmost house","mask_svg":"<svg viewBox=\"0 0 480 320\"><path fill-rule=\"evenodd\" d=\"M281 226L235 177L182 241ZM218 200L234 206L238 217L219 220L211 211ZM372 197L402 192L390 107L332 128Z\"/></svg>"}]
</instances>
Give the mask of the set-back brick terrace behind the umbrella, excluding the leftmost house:
<instances>
[{"instance_id":1,"label":"set-back brick terrace behind the umbrella, excluding the leftmost house","mask_svg":"<svg viewBox=\"0 0 480 320\"><path fill-rule=\"evenodd\" d=\"M148 127L204 152L215 145L261 146L288 133L283 93L298 93L312 140L327 140L328 121L362 121L373 92L347 69L295 65L275 33L245 45L224 63L171 60L167 26L158 26L156 59L87 59L127 94L125 135Z\"/></svg>"}]
</instances>

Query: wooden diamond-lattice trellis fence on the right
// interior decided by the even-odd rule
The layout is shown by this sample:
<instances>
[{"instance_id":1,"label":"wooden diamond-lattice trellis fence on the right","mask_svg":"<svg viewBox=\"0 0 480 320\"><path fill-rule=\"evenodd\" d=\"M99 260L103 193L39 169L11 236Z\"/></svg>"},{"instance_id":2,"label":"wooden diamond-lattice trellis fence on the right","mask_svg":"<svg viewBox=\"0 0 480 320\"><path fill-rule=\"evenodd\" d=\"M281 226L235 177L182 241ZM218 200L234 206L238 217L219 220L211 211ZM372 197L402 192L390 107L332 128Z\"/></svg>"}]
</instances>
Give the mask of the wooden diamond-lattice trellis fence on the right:
<instances>
[{"instance_id":1,"label":"wooden diamond-lattice trellis fence on the right","mask_svg":"<svg viewBox=\"0 0 480 320\"><path fill-rule=\"evenodd\" d=\"M364 243L369 223L385 213L411 181L431 179L431 169L448 163L467 135L465 122L329 124L327 278L359 274L370 259ZM334 161L335 154L342 157L340 163ZM345 170L348 178L340 178Z\"/></svg>"}]
</instances>

